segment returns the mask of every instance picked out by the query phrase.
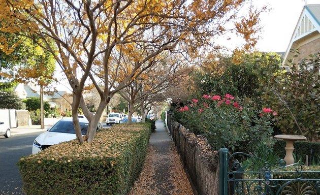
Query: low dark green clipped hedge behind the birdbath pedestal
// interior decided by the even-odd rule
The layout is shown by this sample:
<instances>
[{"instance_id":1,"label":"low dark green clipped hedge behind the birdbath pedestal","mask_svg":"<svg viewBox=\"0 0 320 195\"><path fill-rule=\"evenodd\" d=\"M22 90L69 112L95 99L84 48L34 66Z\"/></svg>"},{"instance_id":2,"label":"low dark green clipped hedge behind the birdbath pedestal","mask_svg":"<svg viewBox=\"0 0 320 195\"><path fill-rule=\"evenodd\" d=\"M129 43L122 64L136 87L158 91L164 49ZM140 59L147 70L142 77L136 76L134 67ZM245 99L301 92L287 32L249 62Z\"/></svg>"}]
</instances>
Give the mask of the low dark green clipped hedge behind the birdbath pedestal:
<instances>
[{"instance_id":1,"label":"low dark green clipped hedge behind the birdbath pedestal","mask_svg":"<svg viewBox=\"0 0 320 195\"><path fill-rule=\"evenodd\" d=\"M285 156L285 141L277 140L274 144L273 151L276 151L281 158ZM306 142L306 141L296 141L294 142L295 150L293 151L294 156L299 160L302 159L300 163L304 164L305 156L310 155L310 150L312 149L312 161L316 165L320 165L320 142ZM311 163L312 163L311 161Z\"/></svg>"}]
</instances>

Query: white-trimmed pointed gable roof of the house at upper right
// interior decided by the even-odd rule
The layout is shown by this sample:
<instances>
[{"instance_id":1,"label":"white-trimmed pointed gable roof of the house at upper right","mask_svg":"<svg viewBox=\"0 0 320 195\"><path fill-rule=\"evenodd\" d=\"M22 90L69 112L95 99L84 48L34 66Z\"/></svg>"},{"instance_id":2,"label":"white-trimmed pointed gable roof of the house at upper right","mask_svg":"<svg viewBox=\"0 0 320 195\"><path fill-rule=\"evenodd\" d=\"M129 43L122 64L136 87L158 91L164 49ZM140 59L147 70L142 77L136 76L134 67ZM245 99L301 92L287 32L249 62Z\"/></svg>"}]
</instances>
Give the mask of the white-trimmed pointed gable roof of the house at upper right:
<instances>
[{"instance_id":1,"label":"white-trimmed pointed gable roof of the house at upper right","mask_svg":"<svg viewBox=\"0 0 320 195\"><path fill-rule=\"evenodd\" d=\"M289 46L284 53L283 63L285 63L286 59L293 58L294 53L290 52L290 50L298 49L297 41L314 34L316 31L320 33L320 4L305 5L291 37Z\"/></svg>"}]
</instances>

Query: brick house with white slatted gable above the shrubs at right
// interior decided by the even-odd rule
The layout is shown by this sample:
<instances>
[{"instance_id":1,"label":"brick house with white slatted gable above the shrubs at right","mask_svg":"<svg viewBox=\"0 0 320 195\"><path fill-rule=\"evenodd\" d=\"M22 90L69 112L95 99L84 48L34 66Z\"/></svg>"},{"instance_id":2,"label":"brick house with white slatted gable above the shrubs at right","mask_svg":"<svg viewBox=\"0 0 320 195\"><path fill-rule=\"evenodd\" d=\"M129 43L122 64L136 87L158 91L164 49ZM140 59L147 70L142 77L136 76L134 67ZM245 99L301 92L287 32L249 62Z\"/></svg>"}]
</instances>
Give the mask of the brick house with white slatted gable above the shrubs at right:
<instances>
[{"instance_id":1,"label":"brick house with white slatted gable above the shrubs at right","mask_svg":"<svg viewBox=\"0 0 320 195\"><path fill-rule=\"evenodd\" d=\"M296 53L291 50L297 50L300 54L294 58ZM288 64L288 59L293 59L293 63L297 64L302 59L309 58L309 54L318 52L320 52L320 4L306 3L284 53L283 65Z\"/></svg>"}]
</instances>

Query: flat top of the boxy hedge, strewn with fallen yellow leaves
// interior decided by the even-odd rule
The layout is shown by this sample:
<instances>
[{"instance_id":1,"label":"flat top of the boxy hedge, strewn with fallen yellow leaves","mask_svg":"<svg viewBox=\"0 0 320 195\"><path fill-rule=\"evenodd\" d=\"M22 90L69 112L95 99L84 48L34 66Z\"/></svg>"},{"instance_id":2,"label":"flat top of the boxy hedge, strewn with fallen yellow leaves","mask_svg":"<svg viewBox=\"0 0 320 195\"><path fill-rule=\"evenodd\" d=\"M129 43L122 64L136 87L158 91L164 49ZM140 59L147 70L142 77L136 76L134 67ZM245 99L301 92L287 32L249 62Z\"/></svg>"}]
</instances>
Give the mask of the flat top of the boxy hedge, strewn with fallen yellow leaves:
<instances>
[{"instance_id":1,"label":"flat top of the boxy hedge, strewn with fallen yellow leaves","mask_svg":"<svg viewBox=\"0 0 320 195\"><path fill-rule=\"evenodd\" d=\"M120 124L111 128L104 128L97 132L91 143L78 143L77 140L62 142L34 155L21 160L55 160L61 163L81 160L84 158L116 158L126 149L130 141L138 138L141 131L149 130L150 125L145 123Z\"/></svg>"}]
</instances>

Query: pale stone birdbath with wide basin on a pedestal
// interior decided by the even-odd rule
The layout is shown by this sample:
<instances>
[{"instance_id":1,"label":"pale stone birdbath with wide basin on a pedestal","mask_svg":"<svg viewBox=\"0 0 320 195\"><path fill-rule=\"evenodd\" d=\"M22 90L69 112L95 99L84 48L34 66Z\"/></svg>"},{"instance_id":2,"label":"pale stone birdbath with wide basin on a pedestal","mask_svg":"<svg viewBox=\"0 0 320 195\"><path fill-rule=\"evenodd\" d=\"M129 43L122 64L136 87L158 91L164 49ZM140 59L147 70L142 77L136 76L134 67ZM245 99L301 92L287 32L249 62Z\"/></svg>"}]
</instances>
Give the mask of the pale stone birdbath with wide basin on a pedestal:
<instances>
[{"instance_id":1,"label":"pale stone birdbath with wide basin on a pedestal","mask_svg":"<svg viewBox=\"0 0 320 195\"><path fill-rule=\"evenodd\" d=\"M295 163L295 159L293 157L292 152L294 151L293 143L297 140L306 140L307 138L304 136L297 136L297 135L276 135L274 138L282 139L285 141L285 157L284 161L286 165L292 165Z\"/></svg>"}]
</instances>

